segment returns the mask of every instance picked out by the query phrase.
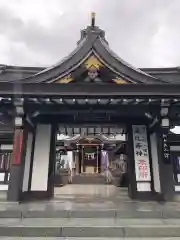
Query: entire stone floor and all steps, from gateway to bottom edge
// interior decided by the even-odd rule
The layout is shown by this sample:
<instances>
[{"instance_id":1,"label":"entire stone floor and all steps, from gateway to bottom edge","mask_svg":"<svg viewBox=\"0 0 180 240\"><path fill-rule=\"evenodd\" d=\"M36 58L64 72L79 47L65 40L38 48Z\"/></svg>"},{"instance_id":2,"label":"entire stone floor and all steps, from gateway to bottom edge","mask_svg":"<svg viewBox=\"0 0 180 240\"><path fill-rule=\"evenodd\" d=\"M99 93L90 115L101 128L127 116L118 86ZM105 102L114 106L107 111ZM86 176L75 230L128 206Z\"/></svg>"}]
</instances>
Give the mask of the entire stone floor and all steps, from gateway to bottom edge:
<instances>
[{"instance_id":1,"label":"entire stone floor and all steps, from gateway to bottom edge","mask_svg":"<svg viewBox=\"0 0 180 240\"><path fill-rule=\"evenodd\" d=\"M180 239L180 202L131 201L126 189L68 185L55 189L55 198L51 201L1 202L0 236L13 237L11 239L22 236L24 239Z\"/></svg>"}]
</instances>

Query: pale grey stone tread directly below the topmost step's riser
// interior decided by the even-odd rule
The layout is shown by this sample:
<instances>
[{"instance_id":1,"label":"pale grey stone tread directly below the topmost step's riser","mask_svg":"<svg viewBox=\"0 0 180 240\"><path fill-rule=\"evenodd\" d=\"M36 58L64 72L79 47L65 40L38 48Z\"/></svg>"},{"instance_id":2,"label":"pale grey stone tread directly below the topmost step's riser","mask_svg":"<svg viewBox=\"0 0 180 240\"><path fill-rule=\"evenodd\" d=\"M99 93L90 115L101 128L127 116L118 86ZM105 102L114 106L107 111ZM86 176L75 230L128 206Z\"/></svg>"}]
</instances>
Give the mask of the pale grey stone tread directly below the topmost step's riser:
<instances>
[{"instance_id":1,"label":"pale grey stone tread directly below the topmost step's riser","mask_svg":"<svg viewBox=\"0 0 180 240\"><path fill-rule=\"evenodd\" d=\"M0 226L29 226L29 227L63 227L63 226L180 226L180 219L114 219L114 218L25 218L25 219L0 219Z\"/></svg>"}]
</instances>

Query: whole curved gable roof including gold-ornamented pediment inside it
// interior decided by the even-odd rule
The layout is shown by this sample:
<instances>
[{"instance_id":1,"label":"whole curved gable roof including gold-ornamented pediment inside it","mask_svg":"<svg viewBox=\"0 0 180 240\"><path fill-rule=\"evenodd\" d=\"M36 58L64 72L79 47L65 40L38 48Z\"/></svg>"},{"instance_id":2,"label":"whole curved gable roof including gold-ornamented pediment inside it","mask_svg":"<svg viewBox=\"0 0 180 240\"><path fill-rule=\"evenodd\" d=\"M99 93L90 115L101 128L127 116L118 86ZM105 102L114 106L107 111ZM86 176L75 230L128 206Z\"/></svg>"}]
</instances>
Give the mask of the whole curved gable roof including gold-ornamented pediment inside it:
<instances>
[{"instance_id":1,"label":"whole curved gable roof including gold-ornamented pediment inside it","mask_svg":"<svg viewBox=\"0 0 180 240\"><path fill-rule=\"evenodd\" d=\"M33 72L33 69L31 69ZM132 67L119 58L105 39L105 32L92 24L81 31L81 39L77 48L61 62L38 73L19 78L22 83L69 83L114 82L118 84L168 83L168 79L152 76L145 71ZM1 78L0 78L1 79ZM12 78L8 81L14 82ZM93 81L92 81L93 82Z\"/></svg>"}]
</instances>

